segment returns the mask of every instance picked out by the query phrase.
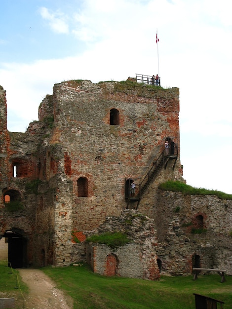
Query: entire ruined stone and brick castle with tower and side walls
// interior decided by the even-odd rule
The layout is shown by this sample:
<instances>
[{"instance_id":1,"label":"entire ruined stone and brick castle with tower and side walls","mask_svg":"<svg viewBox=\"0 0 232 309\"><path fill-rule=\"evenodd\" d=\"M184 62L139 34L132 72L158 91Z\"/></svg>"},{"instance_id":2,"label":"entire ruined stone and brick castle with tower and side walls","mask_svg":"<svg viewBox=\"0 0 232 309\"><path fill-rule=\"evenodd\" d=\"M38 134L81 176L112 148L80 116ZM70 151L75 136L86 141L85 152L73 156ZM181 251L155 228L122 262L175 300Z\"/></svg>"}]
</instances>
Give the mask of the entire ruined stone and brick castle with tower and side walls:
<instances>
[{"instance_id":1,"label":"entire ruined stone and brick castle with tower and side walls","mask_svg":"<svg viewBox=\"0 0 232 309\"><path fill-rule=\"evenodd\" d=\"M12 267L83 261L151 280L193 267L232 274L232 201L158 189L184 182L179 89L129 79L55 84L25 133L7 130L0 86L0 238ZM131 242L114 250L85 242L106 231Z\"/></svg>"}]
</instances>

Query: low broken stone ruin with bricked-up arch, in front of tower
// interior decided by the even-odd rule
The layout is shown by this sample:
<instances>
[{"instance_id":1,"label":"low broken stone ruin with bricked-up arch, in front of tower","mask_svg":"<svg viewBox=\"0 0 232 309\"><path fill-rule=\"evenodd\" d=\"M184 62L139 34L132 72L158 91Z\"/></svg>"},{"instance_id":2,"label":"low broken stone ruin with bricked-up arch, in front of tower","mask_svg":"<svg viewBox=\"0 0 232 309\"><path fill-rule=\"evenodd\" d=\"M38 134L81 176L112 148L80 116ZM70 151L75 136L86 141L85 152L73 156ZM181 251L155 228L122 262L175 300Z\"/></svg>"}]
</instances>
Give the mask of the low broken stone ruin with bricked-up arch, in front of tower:
<instances>
[{"instance_id":1,"label":"low broken stone ruin with bricked-up arch, in front of tower","mask_svg":"<svg viewBox=\"0 0 232 309\"><path fill-rule=\"evenodd\" d=\"M159 278L156 254L156 231L154 221L136 210L125 209L118 217L107 217L104 224L86 235L104 232L122 232L131 242L111 249L109 246L90 243L87 261L94 272L109 275L108 259L116 261L114 275L155 280ZM110 263L114 264L113 262Z\"/></svg>"}]
</instances>

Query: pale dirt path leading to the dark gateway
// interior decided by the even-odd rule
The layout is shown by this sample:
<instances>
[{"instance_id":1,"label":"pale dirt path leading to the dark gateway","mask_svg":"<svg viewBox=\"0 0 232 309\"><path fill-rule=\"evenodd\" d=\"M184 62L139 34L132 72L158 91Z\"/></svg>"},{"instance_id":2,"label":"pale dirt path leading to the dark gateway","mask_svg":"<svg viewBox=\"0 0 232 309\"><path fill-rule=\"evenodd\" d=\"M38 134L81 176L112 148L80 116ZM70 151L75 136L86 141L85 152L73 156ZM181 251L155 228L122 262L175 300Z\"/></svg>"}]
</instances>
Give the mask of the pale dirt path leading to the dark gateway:
<instances>
[{"instance_id":1,"label":"pale dirt path leading to the dark gateway","mask_svg":"<svg viewBox=\"0 0 232 309\"><path fill-rule=\"evenodd\" d=\"M29 287L25 309L72 309L73 300L55 287L55 283L38 269L18 269Z\"/></svg>"}]
</instances>

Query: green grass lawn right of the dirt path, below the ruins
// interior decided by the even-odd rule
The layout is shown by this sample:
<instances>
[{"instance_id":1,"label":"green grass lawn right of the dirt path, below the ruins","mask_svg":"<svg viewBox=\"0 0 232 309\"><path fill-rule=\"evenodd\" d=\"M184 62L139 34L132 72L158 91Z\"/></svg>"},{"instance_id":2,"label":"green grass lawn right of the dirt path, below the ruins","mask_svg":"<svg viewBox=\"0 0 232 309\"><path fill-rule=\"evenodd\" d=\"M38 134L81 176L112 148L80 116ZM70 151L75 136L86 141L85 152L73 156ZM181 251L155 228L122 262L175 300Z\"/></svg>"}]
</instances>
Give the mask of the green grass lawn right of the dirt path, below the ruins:
<instances>
[{"instance_id":1,"label":"green grass lawn right of the dirt path, below the ruins","mask_svg":"<svg viewBox=\"0 0 232 309\"><path fill-rule=\"evenodd\" d=\"M218 274L161 276L159 281L106 277L88 266L41 269L74 299L74 309L195 309L193 293L225 302L232 308L232 276ZM220 307L218 307L220 308Z\"/></svg>"}]
</instances>

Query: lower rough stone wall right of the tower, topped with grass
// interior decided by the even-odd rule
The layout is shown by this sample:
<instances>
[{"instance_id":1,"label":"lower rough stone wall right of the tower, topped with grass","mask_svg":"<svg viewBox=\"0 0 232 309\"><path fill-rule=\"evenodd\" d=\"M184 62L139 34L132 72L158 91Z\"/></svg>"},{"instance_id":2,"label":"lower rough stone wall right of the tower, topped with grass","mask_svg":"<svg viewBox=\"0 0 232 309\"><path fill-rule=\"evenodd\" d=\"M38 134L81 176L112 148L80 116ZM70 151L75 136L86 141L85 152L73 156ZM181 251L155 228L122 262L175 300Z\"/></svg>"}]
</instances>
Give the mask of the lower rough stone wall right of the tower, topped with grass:
<instances>
[{"instance_id":1,"label":"lower rough stone wall right of the tower, topped with grass","mask_svg":"<svg viewBox=\"0 0 232 309\"><path fill-rule=\"evenodd\" d=\"M154 212L163 271L191 273L197 255L202 268L226 269L232 274L231 200L159 191ZM202 219L201 229L197 216Z\"/></svg>"}]
</instances>

